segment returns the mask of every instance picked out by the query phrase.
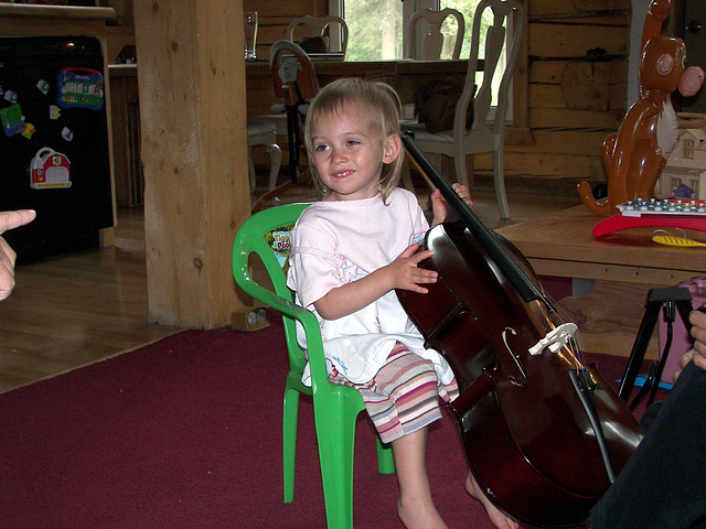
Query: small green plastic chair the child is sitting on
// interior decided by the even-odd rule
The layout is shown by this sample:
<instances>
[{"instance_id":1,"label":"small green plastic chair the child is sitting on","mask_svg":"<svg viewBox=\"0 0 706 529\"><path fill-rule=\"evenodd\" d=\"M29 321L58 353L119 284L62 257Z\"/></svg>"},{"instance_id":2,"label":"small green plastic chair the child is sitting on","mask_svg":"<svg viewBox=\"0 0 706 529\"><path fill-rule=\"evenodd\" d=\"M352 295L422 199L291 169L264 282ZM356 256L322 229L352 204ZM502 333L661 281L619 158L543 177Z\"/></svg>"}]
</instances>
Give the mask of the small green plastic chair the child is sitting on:
<instances>
[{"instance_id":1,"label":"small green plastic chair the child is sitting on","mask_svg":"<svg viewBox=\"0 0 706 529\"><path fill-rule=\"evenodd\" d=\"M282 270L289 250L288 231L308 205L289 204L272 207L253 215L243 223L233 246L233 276L247 294L282 313L289 354L282 419L285 503L295 499L299 395L311 395L328 527L351 529L355 421L365 406L356 390L329 381L319 323L311 312L293 303L292 292L287 288ZM272 283L271 288L258 284L250 276L248 260L252 253L261 259ZM301 384L307 360L304 350L297 344L296 322L303 325L307 335L311 388ZM384 445L379 436L376 439L378 472L392 474L395 472L392 449Z\"/></svg>"}]
</instances>

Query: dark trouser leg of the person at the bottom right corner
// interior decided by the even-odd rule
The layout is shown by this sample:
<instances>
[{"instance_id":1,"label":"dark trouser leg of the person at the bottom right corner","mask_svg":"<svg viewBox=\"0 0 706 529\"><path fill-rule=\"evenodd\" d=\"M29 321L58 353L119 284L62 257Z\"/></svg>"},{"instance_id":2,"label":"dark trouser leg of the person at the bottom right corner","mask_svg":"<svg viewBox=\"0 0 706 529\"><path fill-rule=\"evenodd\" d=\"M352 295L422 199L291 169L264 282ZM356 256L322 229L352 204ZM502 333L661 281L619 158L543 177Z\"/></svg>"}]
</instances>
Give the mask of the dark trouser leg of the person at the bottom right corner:
<instances>
[{"instance_id":1,"label":"dark trouser leg of the person at the bottom right corner","mask_svg":"<svg viewBox=\"0 0 706 529\"><path fill-rule=\"evenodd\" d=\"M689 363L598 501L591 529L706 528L706 370Z\"/></svg>"}]
</instances>

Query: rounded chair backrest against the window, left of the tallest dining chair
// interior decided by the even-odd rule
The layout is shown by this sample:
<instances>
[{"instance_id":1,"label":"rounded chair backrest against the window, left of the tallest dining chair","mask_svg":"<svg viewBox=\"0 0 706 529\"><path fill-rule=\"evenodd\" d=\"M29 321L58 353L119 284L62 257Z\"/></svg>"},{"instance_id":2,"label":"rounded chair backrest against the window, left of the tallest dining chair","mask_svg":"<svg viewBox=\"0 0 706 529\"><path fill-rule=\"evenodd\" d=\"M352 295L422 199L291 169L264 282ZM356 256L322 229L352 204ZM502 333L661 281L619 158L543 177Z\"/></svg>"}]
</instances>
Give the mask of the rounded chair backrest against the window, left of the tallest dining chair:
<instances>
[{"instance_id":1,"label":"rounded chair backrest against the window, left of the tallest dining chair","mask_svg":"<svg viewBox=\"0 0 706 529\"><path fill-rule=\"evenodd\" d=\"M441 58L445 42L450 41L451 36L453 36L445 35L441 32L441 24L449 17L454 18L457 21L451 58L459 58L461 56L461 46L463 45L463 35L466 34L466 21L460 11L451 8L446 8L441 11L427 8L411 15L407 26L407 53L405 56L421 61L438 61ZM421 37L421 43L418 43L417 36L421 34L425 26L426 33Z\"/></svg>"}]
</instances>

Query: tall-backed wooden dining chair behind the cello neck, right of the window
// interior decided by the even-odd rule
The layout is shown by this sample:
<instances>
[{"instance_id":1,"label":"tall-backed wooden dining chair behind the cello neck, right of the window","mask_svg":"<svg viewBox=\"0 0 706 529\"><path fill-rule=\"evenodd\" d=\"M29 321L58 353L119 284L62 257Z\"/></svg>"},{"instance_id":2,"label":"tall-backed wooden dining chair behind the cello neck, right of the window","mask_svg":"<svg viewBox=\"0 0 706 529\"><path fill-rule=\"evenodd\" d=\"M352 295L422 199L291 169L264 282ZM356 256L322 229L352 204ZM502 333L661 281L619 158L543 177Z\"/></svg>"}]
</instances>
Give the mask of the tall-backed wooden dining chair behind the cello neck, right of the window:
<instances>
[{"instance_id":1,"label":"tall-backed wooden dining chair behind the cello neck, right of the window","mask_svg":"<svg viewBox=\"0 0 706 529\"><path fill-rule=\"evenodd\" d=\"M485 10L492 14L492 24L485 34L483 57L483 80L475 91L478 55L481 35L481 19ZM525 14L517 0L483 0L473 15L471 32L471 53L466 73L466 82L459 101L456 105L453 128L431 133L424 123L408 123L406 129L415 134L419 148L427 154L443 154L453 159L456 179L469 185L466 156L483 152L493 153L493 181L501 218L510 217L505 180L503 173L503 150L505 144L505 121L510 107L510 88L517 62ZM502 61L504 52L504 62ZM500 78L498 106L491 114L493 78ZM473 105L472 126L467 127L467 115Z\"/></svg>"}]
</instances>

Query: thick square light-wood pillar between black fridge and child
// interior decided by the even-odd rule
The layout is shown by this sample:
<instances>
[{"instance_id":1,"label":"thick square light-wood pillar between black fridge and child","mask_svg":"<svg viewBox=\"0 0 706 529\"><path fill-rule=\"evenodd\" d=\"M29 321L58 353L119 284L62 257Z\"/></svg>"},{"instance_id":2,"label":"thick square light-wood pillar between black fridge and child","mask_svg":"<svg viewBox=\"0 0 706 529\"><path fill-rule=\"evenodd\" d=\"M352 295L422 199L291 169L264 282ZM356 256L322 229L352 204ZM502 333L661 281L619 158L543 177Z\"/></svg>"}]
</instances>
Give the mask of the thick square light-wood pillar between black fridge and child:
<instances>
[{"instance_id":1,"label":"thick square light-wood pillar between black fridge and child","mask_svg":"<svg viewBox=\"0 0 706 529\"><path fill-rule=\"evenodd\" d=\"M242 0L135 2L149 321L212 328L249 216Z\"/></svg>"}]
</instances>

